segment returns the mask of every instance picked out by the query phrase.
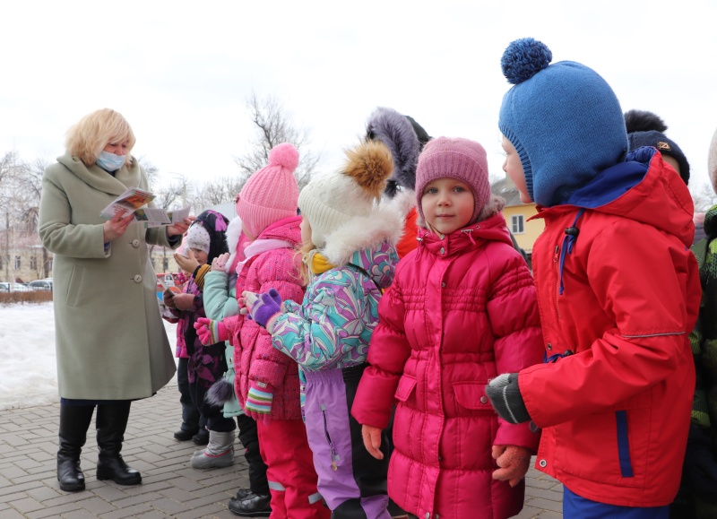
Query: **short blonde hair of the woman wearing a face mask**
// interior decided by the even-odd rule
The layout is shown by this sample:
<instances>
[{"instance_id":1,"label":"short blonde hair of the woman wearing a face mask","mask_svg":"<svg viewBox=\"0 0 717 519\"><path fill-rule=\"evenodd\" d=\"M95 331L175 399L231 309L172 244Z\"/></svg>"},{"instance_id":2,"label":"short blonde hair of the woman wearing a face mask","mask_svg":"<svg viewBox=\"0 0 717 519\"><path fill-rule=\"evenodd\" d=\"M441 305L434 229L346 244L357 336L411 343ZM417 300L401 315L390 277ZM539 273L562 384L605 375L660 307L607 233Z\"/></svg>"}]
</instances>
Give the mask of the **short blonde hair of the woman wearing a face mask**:
<instances>
[{"instance_id":1,"label":"short blonde hair of the woman wearing a face mask","mask_svg":"<svg viewBox=\"0 0 717 519\"><path fill-rule=\"evenodd\" d=\"M129 142L125 162L131 160L129 152L134 148L134 132L125 117L110 108L102 108L86 115L67 130L65 148L70 155L91 166L108 143Z\"/></svg>"}]
</instances>

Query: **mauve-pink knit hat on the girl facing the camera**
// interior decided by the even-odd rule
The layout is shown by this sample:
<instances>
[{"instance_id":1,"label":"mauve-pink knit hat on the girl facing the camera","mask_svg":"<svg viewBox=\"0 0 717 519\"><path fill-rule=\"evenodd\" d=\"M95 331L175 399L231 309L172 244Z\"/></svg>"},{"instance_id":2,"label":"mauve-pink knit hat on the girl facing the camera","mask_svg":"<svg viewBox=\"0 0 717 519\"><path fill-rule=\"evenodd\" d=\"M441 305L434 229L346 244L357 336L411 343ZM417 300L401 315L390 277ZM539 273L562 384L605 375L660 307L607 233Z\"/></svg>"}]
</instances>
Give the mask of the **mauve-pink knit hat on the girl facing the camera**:
<instances>
[{"instance_id":1,"label":"mauve-pink knit hat on the girl facing the camera","mask_svg":"<svg viewBox=\"0 0 717 519\"><path fill-rule=\"evenodd\" d=\"M423 189L437 178L458 178L471 186L474 207L469 225L475 223L490 200L488 160L483 146L468 139L448 137L428 141L419 155L416 169L416 198L421 221L426 221L420 206Z\"/></svg>"}]
</instances>

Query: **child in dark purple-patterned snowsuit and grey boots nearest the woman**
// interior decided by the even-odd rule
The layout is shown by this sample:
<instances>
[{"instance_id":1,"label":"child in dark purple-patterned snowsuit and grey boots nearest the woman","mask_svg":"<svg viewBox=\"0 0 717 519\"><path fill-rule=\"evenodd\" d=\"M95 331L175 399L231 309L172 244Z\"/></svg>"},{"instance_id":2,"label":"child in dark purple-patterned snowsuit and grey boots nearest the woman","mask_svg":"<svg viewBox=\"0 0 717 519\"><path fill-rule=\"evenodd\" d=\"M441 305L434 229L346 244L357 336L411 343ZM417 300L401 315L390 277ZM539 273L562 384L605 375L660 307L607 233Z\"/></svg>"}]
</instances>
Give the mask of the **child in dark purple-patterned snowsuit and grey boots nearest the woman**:
<instances>
[{"instance_id":1,"label":"child in dark purple-patterned snowsuit and grey boots nearest the woman","mask_svg":"<svg viewBox=\"0 0 717 519\"><path fill-rule=\"evenodd\" d=\"M164 299L167 307L173 308L173 313L180 319L177 326L181 326L189 354L187 378L190 395L209 430L209 444L192 457L191 463L196 469L226 467L234 463L234 429L237 426L234 420L223 416L221 406L205 399L212 384L227 370L224 343L203 346L194 330L196 320L204 316L202 290L204 276L209 271L207 262L227 252L227 223L224 215L214 211L205 211L196 217L186 231L187 257L175 255L177 264L187 272L193 272L192 276L186 282L183 293L172 296L165 292Z\"/></svg>"}]
</instances>

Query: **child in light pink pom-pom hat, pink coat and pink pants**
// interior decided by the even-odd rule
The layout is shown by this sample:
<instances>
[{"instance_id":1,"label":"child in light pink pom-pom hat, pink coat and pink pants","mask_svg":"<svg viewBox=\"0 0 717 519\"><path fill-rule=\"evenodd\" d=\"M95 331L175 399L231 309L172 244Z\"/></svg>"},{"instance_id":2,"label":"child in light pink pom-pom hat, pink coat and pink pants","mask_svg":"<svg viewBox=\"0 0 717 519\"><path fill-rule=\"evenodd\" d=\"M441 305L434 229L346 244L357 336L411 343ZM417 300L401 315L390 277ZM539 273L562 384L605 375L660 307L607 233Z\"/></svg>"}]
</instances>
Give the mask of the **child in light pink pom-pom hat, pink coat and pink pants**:
<instances>
[{"instance_id":1,"label":"child in light pink pom-pom hat, pink coat and pink pants","mask_svg":"<svg viewBox=\"0 0 717 519\"><path fill-rule=\"evenodd\" d=\"M289 143L269 153L269 164L242 188L237 214L251 243L237 265L237 293L270 288L285 299L304 297L296 247L298 185L293 176L298 151ZM272 519L328 519L316 489L317 476L301 419L298 366L272 347L272 336L245 315L198 322L203 342L230 340L234 346L235 389L246 414L256 420L259 448L267 465ZM255 496L264 498L263 496ZM255 497L229 502L234 514L252 517ZM264 514L263 514L264 515Z\"/></svg>"}]
</instances>

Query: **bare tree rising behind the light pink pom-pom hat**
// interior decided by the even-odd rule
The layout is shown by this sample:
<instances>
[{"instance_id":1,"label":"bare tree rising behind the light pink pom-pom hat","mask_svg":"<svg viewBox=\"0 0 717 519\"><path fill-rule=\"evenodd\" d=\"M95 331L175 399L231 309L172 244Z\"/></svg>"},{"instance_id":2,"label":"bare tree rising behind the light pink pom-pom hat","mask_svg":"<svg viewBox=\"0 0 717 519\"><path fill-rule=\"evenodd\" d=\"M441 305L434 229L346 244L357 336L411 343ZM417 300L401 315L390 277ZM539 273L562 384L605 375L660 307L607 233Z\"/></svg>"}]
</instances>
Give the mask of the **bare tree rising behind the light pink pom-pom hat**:
<instances>
[{"instance_id":1,"label":"bare tree rising behind the light pink pom-pom hat","mask_svg":"<svg viewBox=\"0 0 717 519\"><path fill-rule=\"evenodd\" d=\"M299 189L306 186L321 159L321 153L307 149L310 143L307 128L293 125L289 112L281 106L278 99L259 99L253 92L246 101L246 107L249 108L252 123L255 125L256 136L251 149L243 156L235 157L242 174L242 186L255 171L266 166L269 151L281 143L296 146L299 160L294 176L297 177Z\"/></svg>"}]
</instances>

